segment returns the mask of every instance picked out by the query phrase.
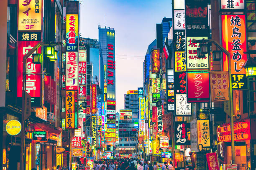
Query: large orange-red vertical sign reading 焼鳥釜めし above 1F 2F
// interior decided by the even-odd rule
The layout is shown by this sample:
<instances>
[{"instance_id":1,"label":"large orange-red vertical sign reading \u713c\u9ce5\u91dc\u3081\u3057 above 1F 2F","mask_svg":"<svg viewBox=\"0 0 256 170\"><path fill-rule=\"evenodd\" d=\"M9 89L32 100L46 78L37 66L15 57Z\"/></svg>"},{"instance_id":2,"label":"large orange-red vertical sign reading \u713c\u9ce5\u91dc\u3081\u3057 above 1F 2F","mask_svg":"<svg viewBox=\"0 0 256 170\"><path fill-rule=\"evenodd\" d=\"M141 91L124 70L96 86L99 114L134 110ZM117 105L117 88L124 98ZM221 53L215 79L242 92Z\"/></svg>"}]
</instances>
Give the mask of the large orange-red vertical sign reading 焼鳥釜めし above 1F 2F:
<instances>
[{"instance_id":1,"label":"large orange-red vertical sign reading \u713c\u9ce5\u91dc\u3081\u3057 above 1F 2F","mask_svg":"<svg viewBox=\"0 0 256 170\"><path fill-rule=\"evenodd\" d=\"M245 15L221 15L222 45L230 52L231 74L245 74L247 56ZM228 71L228 58L223 53L223 70Z\"/></svg>"}]
</instances>

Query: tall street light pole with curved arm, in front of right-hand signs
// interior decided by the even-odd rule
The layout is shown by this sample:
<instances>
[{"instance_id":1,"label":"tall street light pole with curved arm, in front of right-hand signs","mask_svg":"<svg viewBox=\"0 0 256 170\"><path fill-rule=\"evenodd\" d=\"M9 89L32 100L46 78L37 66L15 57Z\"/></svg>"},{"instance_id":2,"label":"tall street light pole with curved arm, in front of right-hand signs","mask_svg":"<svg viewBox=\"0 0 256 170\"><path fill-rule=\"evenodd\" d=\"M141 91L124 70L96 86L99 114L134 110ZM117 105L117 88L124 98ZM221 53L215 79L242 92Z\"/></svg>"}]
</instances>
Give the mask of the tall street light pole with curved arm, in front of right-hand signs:
<instances>
[{"instance_id":1,"label":"tall street light pole with curved arm, in front of right-hand signs","mask_svg":"<svg viewBox=\"0 0 256 170\"><path fill-rule=\"evenodd\" d=\"M228 56L228 80L229 80L229 96L230 96L230 135L231 135L231 155L232 155L232 163L235 162L235 141L234 141L234 113L233 113L233 91L232 91L232 79L231 79L231 61L230 61L230 53L222 47L217 41L215 40L192 40L194 43L201 43L200 48L202 48L202 43L213 43L218 47L225 55ZM203 49L201 49L202 51Z\"/></svg>"}]
</instances>

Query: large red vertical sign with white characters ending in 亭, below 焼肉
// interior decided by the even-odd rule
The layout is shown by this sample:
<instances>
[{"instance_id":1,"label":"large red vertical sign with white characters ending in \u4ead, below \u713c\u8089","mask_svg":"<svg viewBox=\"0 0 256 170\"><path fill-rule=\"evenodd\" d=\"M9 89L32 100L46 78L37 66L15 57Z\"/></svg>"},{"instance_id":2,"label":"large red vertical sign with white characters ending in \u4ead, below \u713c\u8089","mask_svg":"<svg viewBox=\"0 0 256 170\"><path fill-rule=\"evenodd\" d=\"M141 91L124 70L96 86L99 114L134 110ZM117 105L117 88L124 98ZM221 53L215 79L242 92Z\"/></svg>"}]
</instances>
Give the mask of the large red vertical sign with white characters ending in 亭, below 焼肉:
<instances>
[{"instance_id":1,"label":"large red vertical sign with white characters ending in \u4ead, below \u713c\u8089","mask_svg":"<svg viewBox=\"0 0 256 170\"><path fill-rule=\"evenodd\" d=\"M26 36L26 34L23 34ZM39 41L18 41L18 65L17 65L17 97L22 97L22 74L23 74L23 56L28 53ZM41 47L37 50L41 53ZM27 58L26 64L26 92L31 97L41 96L41 65L33 64L32 55ZM36 75L37 74L37 75Z\"/></svg>"}]
</instances>

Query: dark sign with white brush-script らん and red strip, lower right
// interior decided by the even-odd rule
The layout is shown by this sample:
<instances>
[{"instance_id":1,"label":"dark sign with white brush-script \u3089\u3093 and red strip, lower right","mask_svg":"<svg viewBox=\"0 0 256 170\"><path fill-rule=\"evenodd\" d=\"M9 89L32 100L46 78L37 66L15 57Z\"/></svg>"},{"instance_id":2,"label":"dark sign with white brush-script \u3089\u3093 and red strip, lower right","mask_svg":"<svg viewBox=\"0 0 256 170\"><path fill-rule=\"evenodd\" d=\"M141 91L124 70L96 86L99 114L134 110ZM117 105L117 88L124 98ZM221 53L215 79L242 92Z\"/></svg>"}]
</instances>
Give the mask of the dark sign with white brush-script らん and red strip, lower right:
<instances>
[{"instance_id":1,"label":"dark sign with white brush-script \u3089\u3093 and red strip, lower right","mask_svg":"<svg viewBox=\"0 0 256 170\"><path fill-rule=\"evenodd\" d=\"M186 122L175 122L175 145L187 145Z\"/></svg>"}]
</instances>

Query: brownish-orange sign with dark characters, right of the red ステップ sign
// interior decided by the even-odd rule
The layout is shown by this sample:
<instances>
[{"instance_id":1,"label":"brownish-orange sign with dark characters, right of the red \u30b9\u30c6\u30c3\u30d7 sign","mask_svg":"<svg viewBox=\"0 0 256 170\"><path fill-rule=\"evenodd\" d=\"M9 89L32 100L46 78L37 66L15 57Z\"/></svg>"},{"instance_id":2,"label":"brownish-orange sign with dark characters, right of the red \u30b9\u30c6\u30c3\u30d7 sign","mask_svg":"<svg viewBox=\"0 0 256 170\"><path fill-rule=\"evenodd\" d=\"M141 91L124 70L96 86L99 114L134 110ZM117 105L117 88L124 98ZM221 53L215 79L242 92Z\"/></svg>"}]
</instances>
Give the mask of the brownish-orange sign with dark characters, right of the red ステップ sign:
<instances>
[{"instance_id":1,"label":"brownish-orange sign with dark characters, right of the red \u30b9\u30c6\u30c3\u30d7 sign","mask_svg":"<svg viewBox=\"0 0 256 170\"><path fill-rule=\"evenodd\" d=\"M225 101L228 99L228 72L210 72L210 87L212 101Z\"/></svg>"}]
</instances>

